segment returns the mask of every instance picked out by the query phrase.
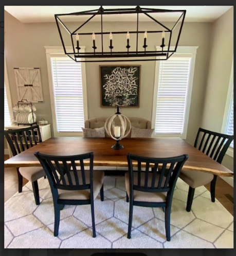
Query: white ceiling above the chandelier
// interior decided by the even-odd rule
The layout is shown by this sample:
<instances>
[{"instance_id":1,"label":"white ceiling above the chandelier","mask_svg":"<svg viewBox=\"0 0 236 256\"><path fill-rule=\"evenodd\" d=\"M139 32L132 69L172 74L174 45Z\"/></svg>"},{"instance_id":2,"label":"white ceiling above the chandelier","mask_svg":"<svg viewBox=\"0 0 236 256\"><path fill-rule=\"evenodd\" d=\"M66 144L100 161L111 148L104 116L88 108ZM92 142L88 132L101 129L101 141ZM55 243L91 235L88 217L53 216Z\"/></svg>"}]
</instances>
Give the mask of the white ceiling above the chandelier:
<instances>
[{"instance_id":1,"label":"white ceiling above the chandelier","mask_svg":"<svg viewBox=\"0 0 236 256\"><path fill-rule=\"evenodd\" d=\"M22 23L55 22L54 14L71 13L85 10L98 9L100 6L5 6L5 10ZM135 6L103 6L104 9L134 8ZM141 6L143 8L159 8L172 10L187 10L185 21L187 22L213 22L232 6ZM180 13L171 15L165 13L151 14L159 21L176 21ZM103 21L136 21L135 14L106 15ZM74 17L63 21L86 21L89 16ZM146 15L139 18L140 21L150 21ZM92 21L92 20L91 20ZM97 15L93 21L100 21Z\"/></svg>"}]
</instances>

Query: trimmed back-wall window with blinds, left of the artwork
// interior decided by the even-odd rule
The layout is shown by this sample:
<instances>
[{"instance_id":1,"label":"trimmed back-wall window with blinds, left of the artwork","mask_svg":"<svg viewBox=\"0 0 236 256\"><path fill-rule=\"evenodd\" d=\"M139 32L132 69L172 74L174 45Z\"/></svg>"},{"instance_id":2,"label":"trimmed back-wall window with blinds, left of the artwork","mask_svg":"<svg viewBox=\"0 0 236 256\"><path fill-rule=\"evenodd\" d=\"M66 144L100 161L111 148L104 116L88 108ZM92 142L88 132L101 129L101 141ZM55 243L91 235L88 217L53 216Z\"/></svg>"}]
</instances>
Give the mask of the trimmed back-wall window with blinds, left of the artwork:
<instances>
[{"instance_id":1,"label":"trimmed back-wall window with blinds, left of the artwork","mask_svg":"<svg viewBox=\"0 0 236 256\"><path fill-rule=\"evenodd\" d=\"M54 134L82 134L87 119L85 65L64 54L47 53L47 61Z\"/></svg>"}]
</instances>

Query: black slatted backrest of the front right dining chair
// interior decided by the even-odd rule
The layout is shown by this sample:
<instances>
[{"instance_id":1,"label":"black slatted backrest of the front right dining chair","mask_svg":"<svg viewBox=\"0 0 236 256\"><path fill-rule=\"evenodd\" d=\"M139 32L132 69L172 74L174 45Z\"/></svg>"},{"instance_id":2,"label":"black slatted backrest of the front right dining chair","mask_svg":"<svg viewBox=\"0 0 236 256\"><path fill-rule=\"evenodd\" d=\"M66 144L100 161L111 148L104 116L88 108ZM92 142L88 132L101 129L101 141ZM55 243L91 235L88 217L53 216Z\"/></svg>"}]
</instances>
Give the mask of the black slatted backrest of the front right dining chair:
<instances>
[{"instance_id":1,"label":"black slatted backrest of the front right dining chair","mask_svg":"<svg viewBox=\"0 0 236 256\"><path fill-rule=\"evenodd\" d=\"M179 176L181 168L188 155L181 155L173 158L149 158L127 154L129 166L129 179L130 179L130 198L133 198L133 191L142 192L168 192L172 193L176 180ZM133 162L145 163L145 172L137 172L138 182L134 180ZM153 167L153 172L149 172L149 167ZM170 165L170 168L167 168ZM161 166L158 172L158 167ZM167 174L167 175L166 175ZM140 176L140 177L139 177ZM165 177L166 176L166 177ZM143 180L144 179L144 180ZM149 180L150 179L150 180ZM141 180L141 182L139 182Z\"/></svg>"}]
</instances>

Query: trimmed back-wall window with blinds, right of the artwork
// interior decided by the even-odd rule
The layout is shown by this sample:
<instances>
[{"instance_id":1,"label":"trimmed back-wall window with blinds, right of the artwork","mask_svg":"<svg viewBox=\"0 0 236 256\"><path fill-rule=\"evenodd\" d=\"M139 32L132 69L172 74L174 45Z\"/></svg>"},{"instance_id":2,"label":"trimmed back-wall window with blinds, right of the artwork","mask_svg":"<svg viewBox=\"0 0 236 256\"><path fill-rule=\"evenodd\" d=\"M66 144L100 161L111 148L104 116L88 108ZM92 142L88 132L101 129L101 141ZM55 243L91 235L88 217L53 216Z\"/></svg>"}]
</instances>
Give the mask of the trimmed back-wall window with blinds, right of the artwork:
<instances>
[{"instance_id":1,"label":"trimmed back-wall window with blinds, right of the artwork","mask_svg":"<svg viewBox=\"0 0 236 256\"><path fill-rule=\"evenodd\" d=\"M156 64L152 121L155 136L186 139L196 47L186 48L186 53L176 53Z\"/></svg>"}]
</instances>

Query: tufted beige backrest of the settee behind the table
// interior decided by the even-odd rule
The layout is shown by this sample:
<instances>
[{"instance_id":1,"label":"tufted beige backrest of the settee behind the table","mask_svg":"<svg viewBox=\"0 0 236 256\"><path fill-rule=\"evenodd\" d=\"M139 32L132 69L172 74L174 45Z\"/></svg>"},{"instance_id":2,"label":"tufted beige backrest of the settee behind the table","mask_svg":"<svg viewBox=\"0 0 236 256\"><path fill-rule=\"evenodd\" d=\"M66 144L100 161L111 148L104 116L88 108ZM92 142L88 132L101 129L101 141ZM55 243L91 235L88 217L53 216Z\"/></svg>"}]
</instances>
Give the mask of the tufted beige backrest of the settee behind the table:
<instances>
[{"instance_id":1,"label":"tufted beige backrest of the settee behind the table","mask_svg":"<svg viewBox=\"0 0 236 256\"><path fill-rule=\"evenodd\" d=\"M84 128L101 128L105 125L105 122L108 117L95 117L95 118L90 118L84 122ZM139 118L139 117L128 117L131 125L140 128L140 129L151 129L152 128L152 122L148 121L147 119L144 118ZM129 127L126 128L126 130L129 130ZM105 137L108 137L108 134L105 132ZM131 131L128 134L127 138L131 137Z\"/></svg>"}]
</instances>

